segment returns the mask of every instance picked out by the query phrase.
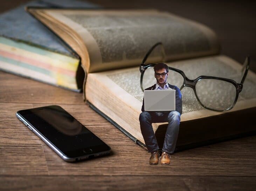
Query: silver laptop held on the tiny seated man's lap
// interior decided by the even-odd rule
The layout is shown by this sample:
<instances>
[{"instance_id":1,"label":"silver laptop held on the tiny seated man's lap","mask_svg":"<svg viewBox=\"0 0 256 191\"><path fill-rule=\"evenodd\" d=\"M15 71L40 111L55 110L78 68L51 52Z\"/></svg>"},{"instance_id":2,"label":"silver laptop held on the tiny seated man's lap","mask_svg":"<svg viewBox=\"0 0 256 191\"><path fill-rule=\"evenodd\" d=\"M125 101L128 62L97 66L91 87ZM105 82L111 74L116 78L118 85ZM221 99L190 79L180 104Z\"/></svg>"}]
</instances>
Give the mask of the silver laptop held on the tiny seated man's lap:
<instances>
[{"instance_id":1,"label":"silver laptop held on the tiny seated man's lap","mask_svg":"<svg viewBox=\"0 0 256 191\"><path fill-rule=\"evenodd\" d=\"M175 90L145 90L144 110L147 112L175 110Z\"/></svg>"}]
</instances>

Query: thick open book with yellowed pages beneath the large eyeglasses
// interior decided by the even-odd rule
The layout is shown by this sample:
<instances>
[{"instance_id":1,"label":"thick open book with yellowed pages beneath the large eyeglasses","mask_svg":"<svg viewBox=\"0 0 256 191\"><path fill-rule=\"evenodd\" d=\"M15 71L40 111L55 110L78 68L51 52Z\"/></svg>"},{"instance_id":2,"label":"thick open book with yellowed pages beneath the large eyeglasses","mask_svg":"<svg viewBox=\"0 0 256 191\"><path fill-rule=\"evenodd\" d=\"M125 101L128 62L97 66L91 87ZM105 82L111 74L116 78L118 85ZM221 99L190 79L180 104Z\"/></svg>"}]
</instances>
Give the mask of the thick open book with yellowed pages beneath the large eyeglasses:
<instances>
[{"instance_id":1,"label":"thick open book with yellowed pages beneath the large eyeglasses","mask_svg":"<svg viewBox=\"0 0 256 191\"><path fill-rule=\"evenodd\" d=\"M86 74L84 98L89 105L141 146L145 146L139 125L144 94L140 89L139 66L155 43L163 43L165 55L161 48L156 48L148 62L156 63L164 58L168 66L183 70L190 79L208 75L240 83L242 66L219 55L215 33L202 24L170 13L35 8L28 8L28 12L81 57ZM175 79L169 83L175 85ZM178 148L255 133L256 75L253 72L248 72L235 107L228 112L203 108L191 88L184 87L181 93L183 114ZM164 137L162 126L166 124L153 124L157 137Z\"/></svg>"}]
</instances>

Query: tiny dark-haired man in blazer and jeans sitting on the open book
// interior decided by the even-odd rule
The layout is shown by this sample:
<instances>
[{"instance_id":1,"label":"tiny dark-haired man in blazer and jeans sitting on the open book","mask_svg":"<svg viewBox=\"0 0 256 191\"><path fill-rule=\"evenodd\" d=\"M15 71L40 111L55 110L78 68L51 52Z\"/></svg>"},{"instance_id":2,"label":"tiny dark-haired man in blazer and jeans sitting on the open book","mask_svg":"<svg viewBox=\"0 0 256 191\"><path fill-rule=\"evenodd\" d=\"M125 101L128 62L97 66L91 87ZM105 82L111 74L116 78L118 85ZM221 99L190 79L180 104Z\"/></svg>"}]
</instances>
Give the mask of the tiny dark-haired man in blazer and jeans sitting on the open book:
<instances>
[{"instance_id":1,"label":"tiny dark-haired man in blazer and jeans sitting on the open book","mask_svg":"<svg viewBox=\"0 0 256 191\"><path fill-rule=\"evenodd\" d=\"M171 112L146 112L144 110L144 99L141 108L142 113L139 116L140 129L143 135L148 152L151 153L150 165L157 165L159 159L159 147L157 139L152 128L152 123L168 122L168 127L165 134L164 146L162 148L161 164L170 164L170 154L174 152L179 127L180 127L180 115L182 114L182 100L181 92L177 86L167 83L167 77L169 75L168 66L164 63L158 63L154 66L155 78L157 83L146 90L167 90L174 89L175 93L175 111Z\"/></svg>"}]
</instances>

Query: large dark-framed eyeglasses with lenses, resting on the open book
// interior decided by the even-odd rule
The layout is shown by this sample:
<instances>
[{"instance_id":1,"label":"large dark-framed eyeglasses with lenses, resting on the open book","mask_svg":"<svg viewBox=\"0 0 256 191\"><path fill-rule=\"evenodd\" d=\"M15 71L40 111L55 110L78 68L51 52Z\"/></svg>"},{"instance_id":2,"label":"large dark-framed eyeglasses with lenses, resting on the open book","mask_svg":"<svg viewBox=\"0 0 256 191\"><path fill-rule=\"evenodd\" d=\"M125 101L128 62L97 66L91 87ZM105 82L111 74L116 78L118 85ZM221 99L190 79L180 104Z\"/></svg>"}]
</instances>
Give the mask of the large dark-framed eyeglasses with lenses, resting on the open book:
<instances>
[{"instance_id":1,"label":"large dark-framed eyeglasses with lenses, resting on the open book","mask_svg":"<svg viewBox=\"0 0 256 191\"><path fill-rule=\"evenodd\" d=\"M147 87L152 86L155 83L153 67L155 63L144 64L147 57L153 51L153 49L162 45L162 43L155 44L144 57L140 65L140 87L144 91ZM227 111L232 109L238 99L239 93L243 89L243 83L249 70L250 58L247 57L243 64L242 79L240 83L236 83L232 79L215 77L215 76L199 76L195 79L189 79L182 70L177 68L168 67L169 75L168 80L171 84L176 85L182 90L185 86L191 87L194 91L195 97L206 109L214 111ZM166 75L166 73L157 74Z\"/></svg>"}]
</instances>

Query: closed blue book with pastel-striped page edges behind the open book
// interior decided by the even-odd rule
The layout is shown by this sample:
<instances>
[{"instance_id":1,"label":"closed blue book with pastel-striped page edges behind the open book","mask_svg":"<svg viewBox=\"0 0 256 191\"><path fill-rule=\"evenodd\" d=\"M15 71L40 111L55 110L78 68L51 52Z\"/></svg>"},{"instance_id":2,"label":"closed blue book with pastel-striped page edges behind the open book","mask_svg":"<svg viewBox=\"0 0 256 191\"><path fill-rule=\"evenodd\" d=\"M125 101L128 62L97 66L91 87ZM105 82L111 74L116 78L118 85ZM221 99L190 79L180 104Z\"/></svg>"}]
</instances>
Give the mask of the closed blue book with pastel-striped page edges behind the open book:
<instances>
[{"instance_id":1,"label":"closed blue book with pastel-striped page edges behind the open book","mask_svg":"<svg viewBox=\"0 0 256 191\"><path fill-rule=\"evenodd\" d=\"M45 83L81 91L80 58L53 32L25 11L38 8L96 8L86 2L38 0L0 15L0 69Z\"/></svg>"}]
</instances>

